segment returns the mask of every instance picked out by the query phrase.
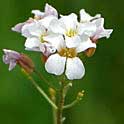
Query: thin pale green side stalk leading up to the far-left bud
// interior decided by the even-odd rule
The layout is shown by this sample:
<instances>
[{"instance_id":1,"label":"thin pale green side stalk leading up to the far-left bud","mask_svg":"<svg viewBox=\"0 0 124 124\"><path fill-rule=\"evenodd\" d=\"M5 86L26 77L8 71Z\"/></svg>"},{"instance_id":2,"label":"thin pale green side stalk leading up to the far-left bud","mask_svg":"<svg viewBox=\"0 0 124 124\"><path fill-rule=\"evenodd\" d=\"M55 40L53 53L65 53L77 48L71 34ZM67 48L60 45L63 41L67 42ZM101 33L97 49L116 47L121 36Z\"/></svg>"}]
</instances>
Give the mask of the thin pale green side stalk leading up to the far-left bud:
<instances>
[{"instance_id":1,"label":"thin pale green side stalk leading up to the far-left bud","mask_svg":"<svg viewBox=\"0 0 124 124\"><path fill-rule=\"evenodd\" d=\"M39 91L40 94L43 95L43 97L48 101L48 103L51 104L51 106L57 110L57 106L53 103L53 101L47 96L47 94L43 91L43 89L34 81L34 79L31 76L28 76L29 80L32 82L32 84L35 86L35 88Z\"/></svg>"}]
</instances>

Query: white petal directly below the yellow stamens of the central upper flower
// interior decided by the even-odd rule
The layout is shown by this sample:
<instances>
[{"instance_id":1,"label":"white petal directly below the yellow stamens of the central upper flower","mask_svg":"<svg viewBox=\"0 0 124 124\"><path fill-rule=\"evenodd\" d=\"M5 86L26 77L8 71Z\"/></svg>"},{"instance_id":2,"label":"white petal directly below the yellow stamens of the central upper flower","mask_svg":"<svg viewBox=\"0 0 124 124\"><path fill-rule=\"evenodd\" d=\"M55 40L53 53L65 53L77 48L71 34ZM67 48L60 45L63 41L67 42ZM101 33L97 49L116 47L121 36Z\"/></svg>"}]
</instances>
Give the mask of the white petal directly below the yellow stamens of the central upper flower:
<instances>
[{"instance_id":1,"label":"white petal directly below the yellow stamens of the central upper flower","mask_svg":"<svg viewBox=\"0 0 124 124\"><path fill-rule=\"evenodd\" d=\"M81 43L80 36L67 37L65 36L66 46L68 48L77 47Z\"/></svg>"}]
</instances>

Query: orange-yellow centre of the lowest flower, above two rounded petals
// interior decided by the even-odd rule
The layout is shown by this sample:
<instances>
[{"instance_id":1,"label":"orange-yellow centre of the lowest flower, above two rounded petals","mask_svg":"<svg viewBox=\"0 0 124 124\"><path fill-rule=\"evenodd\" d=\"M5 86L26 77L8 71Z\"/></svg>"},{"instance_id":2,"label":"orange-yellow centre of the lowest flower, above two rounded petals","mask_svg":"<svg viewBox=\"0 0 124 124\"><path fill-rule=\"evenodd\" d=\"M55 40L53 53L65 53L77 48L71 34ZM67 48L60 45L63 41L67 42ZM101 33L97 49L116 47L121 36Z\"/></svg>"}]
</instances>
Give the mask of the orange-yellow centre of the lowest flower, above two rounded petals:
<instances>
[{"instance_id":1,"label":"orange-yellow centre of the lowest flower, above two rounded petals","mask_svg":"<svg viewBox=\"0 0 124 124\"><path fill-rule=\"evenodd\" d=\"M60 56L67 58L74 58L77 56L77 52L75 48L62 48L58 53Z\"/></svg>"}]
</instances>

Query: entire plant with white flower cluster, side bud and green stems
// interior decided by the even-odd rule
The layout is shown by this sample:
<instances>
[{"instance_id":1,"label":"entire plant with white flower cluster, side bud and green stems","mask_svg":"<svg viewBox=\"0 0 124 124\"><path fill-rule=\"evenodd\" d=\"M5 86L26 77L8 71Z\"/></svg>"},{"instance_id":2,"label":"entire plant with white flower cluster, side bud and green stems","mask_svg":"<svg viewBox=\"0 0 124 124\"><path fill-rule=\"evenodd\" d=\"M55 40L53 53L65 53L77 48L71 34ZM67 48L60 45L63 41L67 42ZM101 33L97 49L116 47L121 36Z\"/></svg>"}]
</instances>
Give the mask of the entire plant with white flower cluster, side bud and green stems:
<instances>
[{"instance_id":1,"label":"entire plant with white flower cluster, side bud and green stems","mask_svg":"<svg viewBox=\"0 0 124 124\"><path fill-rule=\"evenodd\" d=\"M71 81L81 79L85 75L84 60L80 55L93 56L98 40L109 38L113 30L104 28L104 18L101 14L91 16L84 9L80 10L79 19L75 13L61 15L49 4L45 5L44 12L32 10L32 14L33 17L12 27L12 31L25 37L25 50L42 54L48 73L64 77L60 79L60 89L57 91L36 70L32 59L25 54L4 49L3 62L9 64L10 71L18 64L26 72L36 89L52 105L54 123L62 124L63 110L72 107L84 96L84 91L79 92L76 100L64 105L67 91L72 86ZM48 84L50 98L31 76L33 72ZM59 100L56 98L57 93Z\"/></svg>"}]
</instances>

